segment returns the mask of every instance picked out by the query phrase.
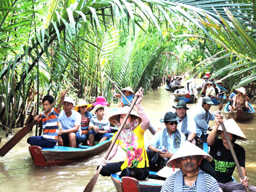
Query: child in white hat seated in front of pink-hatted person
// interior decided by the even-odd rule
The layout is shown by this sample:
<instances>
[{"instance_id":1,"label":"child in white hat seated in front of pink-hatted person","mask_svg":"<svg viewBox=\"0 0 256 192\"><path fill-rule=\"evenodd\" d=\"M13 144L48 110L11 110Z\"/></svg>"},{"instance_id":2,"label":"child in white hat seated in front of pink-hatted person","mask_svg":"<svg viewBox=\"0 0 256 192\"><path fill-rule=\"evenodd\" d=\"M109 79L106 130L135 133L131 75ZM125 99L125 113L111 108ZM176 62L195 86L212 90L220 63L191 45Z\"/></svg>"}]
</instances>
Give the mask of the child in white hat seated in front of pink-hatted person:
<instances>
[{"instance_id":1,"label":"child in white hat seated in front of pink-hatted person","mask_svg":"<svg viewBox=\"0 0 256 192\"><path fill-rule=\"evenodd\" d=\"M105 105L96 105L93 108L92 113L95 115L90 119L88 128L90 146L94 145L94 141L99 141L99 143L101 143L110 138L110 123L104 116L105 108Z\"/></svg>"}]
</instances>

